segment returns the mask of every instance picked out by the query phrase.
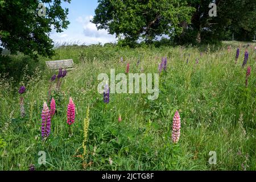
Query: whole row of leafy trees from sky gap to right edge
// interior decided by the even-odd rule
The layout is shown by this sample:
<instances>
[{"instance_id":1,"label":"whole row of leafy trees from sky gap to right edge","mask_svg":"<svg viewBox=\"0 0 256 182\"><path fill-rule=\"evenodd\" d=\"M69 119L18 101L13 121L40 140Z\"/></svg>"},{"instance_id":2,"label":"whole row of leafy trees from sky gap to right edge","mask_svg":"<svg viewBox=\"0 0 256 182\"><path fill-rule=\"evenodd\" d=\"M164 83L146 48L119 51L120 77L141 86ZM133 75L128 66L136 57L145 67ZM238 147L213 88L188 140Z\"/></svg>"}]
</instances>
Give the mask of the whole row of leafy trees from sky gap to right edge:
<instances>
[{"instance_id":1,"label":"whole row of leafy trees from sky gap to right edge","mask_svg":"<svg viewBox=\"0 0 256 182\"><path fill-rule=\"evenodd\" d=\"M217 16L209 16L216 3ZM256 31L256 0L98 0L92 20L117 37L150 42L168 35L179 43L251 40Z\"/></svg>"}]
</instances>

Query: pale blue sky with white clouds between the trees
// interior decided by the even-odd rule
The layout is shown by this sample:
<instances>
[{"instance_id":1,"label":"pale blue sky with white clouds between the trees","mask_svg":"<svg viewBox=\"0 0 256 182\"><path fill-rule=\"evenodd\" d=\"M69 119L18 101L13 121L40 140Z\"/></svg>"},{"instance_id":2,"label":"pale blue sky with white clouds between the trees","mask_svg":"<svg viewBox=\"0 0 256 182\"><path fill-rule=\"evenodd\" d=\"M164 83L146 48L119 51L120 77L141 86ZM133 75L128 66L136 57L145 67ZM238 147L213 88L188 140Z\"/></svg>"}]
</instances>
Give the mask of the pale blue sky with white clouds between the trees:
<instances>
[{"instance_id":1,"label":"pale blue sky with white clouds between the trees","mask_svg":"<svg viewBox=\"0 0 256 182\"><path fill-rule=\"evenodd\" d=\"M68 28L61 33L52 31L50 38L55 44L105 44L116 42L115 35L108 34L106 30L97 30L96 25L90 20L94 16L97 0L72 0L71 3L62 3L63 8L69 9Z\"/></svg>"}]
</instances>

